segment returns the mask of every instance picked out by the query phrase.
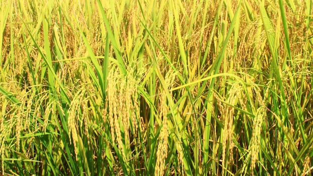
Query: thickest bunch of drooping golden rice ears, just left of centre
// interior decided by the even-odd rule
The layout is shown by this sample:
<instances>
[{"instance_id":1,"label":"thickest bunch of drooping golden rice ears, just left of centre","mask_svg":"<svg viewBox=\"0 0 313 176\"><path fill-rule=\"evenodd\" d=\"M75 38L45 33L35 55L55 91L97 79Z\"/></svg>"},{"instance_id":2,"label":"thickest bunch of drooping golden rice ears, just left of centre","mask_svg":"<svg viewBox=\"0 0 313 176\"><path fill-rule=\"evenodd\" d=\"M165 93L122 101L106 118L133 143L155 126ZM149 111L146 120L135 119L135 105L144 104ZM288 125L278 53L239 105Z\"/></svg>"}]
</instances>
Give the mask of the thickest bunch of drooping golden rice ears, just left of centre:
<instances>
[{"instance_id":1,"label":"thickest bunch of drooping golden rice ears, just left of centre","mask_svg":"<svg viewBox=\"0 0 313 176\"><path fill-rule=\"evenodd\" d=\"M140 112L137 101L138 80L133 72L133 68L130 68L128 74L124 76L119 71L113 70L108 77L108 117L113 145L118 144L125 160L131 158L130 151L133 142L131 135L137 136L138 123L141 124L140 118L137 119ZM122 139L124 140L122 141Z\"/></svg>"}]
</instances>

